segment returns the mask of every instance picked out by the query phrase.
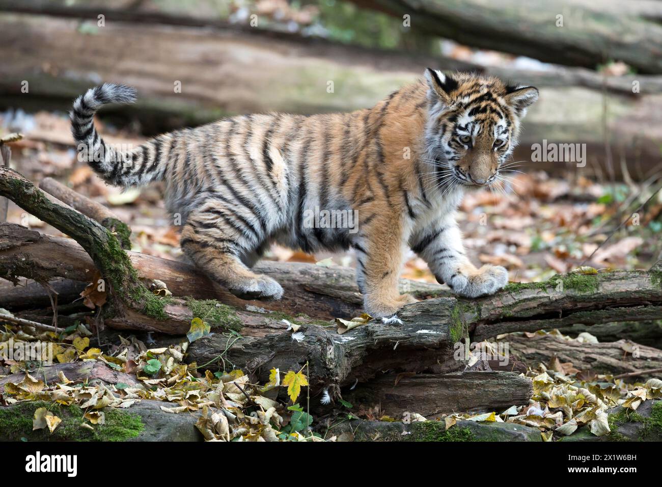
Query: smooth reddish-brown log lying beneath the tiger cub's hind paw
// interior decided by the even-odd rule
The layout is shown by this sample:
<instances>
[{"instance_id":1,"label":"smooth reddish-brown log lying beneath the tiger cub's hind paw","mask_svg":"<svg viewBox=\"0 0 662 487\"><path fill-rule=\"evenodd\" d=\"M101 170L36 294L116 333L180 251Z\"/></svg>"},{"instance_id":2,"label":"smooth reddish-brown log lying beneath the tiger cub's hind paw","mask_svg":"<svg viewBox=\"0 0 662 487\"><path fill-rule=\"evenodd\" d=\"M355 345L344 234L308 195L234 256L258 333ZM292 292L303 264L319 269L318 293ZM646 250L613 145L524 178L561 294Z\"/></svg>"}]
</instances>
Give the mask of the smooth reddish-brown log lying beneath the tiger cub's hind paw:
<instances>
[{"instance_id":1,"label":"smooth reddish-brown log lying beneath the tiger cub's hind paw","mask_svg":"<svg viewBox=\"0 0 662 487\"><path fill-rule=\"evenodd\" d=\"M289 315L306 313L310 317L351 318L361 313L363 300L355 284L354 270L322 267L297 262L260 262L256 270L281 283L285 296L279 301L244 301L216 286L190 264L126 252L138 276L166 283L174 296L218 299L244 308L253 305ZM95 264L72 239L44 235L21 225L0 223L0 277L24 276L34 280L55 277L90 282ZM444 288L412 280L401 280L401 288L420 298L436 296ZM0 297L0 305L4 298Z\"/></svg>"}]
</instances>

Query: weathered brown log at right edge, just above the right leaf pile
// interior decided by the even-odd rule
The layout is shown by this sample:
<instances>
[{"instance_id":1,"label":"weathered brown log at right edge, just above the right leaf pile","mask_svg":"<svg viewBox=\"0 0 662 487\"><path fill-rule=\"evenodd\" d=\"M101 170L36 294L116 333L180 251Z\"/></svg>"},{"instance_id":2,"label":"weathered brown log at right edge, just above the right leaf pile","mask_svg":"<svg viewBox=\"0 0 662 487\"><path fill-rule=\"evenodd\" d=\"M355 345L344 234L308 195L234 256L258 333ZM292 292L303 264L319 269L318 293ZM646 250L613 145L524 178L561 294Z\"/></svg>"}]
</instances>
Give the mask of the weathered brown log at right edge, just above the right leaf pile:
<instances>
[{"instance_id":1,"label":"weathered brown log at right edge, just above the right leaf pile","mask_svg":"<svg viewBox=\"0 0 662 487\"><path fill-rule=\"evenodd\" d=\"M539 364L550 366L556 359L569 363L578 370L590 370L595 374L636 374L634 380L659 377L657 373L645 373L662 368L662 350L646 347L628 340L608 343L581 343L555 335L510 334L503 339L508 343L512 358L521 360L531 368Z\"/></svg>"}]
</instances>

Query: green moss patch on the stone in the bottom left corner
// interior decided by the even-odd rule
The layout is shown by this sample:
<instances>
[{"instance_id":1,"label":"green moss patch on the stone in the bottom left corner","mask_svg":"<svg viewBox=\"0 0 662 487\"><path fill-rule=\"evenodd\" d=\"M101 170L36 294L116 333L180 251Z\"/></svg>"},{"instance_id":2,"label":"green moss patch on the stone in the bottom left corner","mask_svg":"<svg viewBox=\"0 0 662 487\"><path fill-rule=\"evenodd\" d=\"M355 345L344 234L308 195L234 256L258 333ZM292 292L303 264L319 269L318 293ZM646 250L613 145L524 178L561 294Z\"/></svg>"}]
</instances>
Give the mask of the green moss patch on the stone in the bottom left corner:
<instances>
[{"instance_id":1,"label":"green moss patch on the stone in the bottom left corner","mask_svg":"<svg viewBox=\"0 0 662 487\"><path fill-rule=\"evenodd\" d=\"M62 419L50 433L48 428L32 431L32 417L39 407L46 407ZM118 409L106 408L105 424L94 425L94 430L82 428L83 410L78 406L62 406L45 401L22 402L0 407L0 439L3 441L126 441L137 437L144 429L142 419Z\"/></svg>"}]
</instances>

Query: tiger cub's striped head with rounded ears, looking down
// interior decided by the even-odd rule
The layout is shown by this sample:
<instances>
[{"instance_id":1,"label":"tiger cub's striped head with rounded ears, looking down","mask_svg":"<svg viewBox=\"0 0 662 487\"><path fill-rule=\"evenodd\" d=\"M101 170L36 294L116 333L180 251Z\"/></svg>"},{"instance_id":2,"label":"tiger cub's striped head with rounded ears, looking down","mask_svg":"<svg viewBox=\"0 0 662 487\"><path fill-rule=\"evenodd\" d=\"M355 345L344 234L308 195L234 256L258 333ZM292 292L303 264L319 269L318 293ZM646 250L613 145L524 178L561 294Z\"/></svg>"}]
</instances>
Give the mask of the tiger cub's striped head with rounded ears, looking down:
<instances>
[{"instance_id":1,"label":"tiger cub's striped head with rounded ears, looking down","mask_svg":"<svg viewBox=\"0 0 662 487\"><path fill-rule=\"evenodd\" d=\"M538 99L538 89L430 68L425 78L425 143L438 177L453 186L491 184L517 145L520 120Z\"/></svg>"}]
</instances>

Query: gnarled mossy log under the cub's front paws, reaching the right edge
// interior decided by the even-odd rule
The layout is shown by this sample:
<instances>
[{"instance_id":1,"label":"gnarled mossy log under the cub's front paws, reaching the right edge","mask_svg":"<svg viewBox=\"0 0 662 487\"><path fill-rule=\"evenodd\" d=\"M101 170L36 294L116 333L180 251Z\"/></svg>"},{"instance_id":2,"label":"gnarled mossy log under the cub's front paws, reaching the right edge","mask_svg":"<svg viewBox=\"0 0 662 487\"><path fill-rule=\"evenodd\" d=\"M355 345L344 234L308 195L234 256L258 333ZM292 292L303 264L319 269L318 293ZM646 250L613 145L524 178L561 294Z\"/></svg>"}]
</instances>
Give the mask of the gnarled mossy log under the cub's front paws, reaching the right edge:
<instances>
[{"instance_id":1,"label":"gnarled mossy log under the cub's front paws, reaching the right edge","mask_svg":"<svg viewBox=\"0 0 662 487\"><path fill-rule=\"evenodd\" d=\"M267 380L271 368L300 370L308 362L311 385L365 382L384 370L439 373L463 368L453 347L463 338L482 341L512 331L550 329L567 323L607 323L614 317L662 317L659 264L650 272L569 274L559 290L557 278L532 285L510 285L479 299L434 298L407 305L402 325L381 321L339 335L336 327L306 325L301 342L289 333L233 341L212 333L189 347L188 360L221 368L226 362ZM586 279L583 281L583 279ZM590 285L580 285L589 283ZM659 319L659 318L658 318ZM535 330L534 330L535 329Z\"/></svg>"}]
</instances>

